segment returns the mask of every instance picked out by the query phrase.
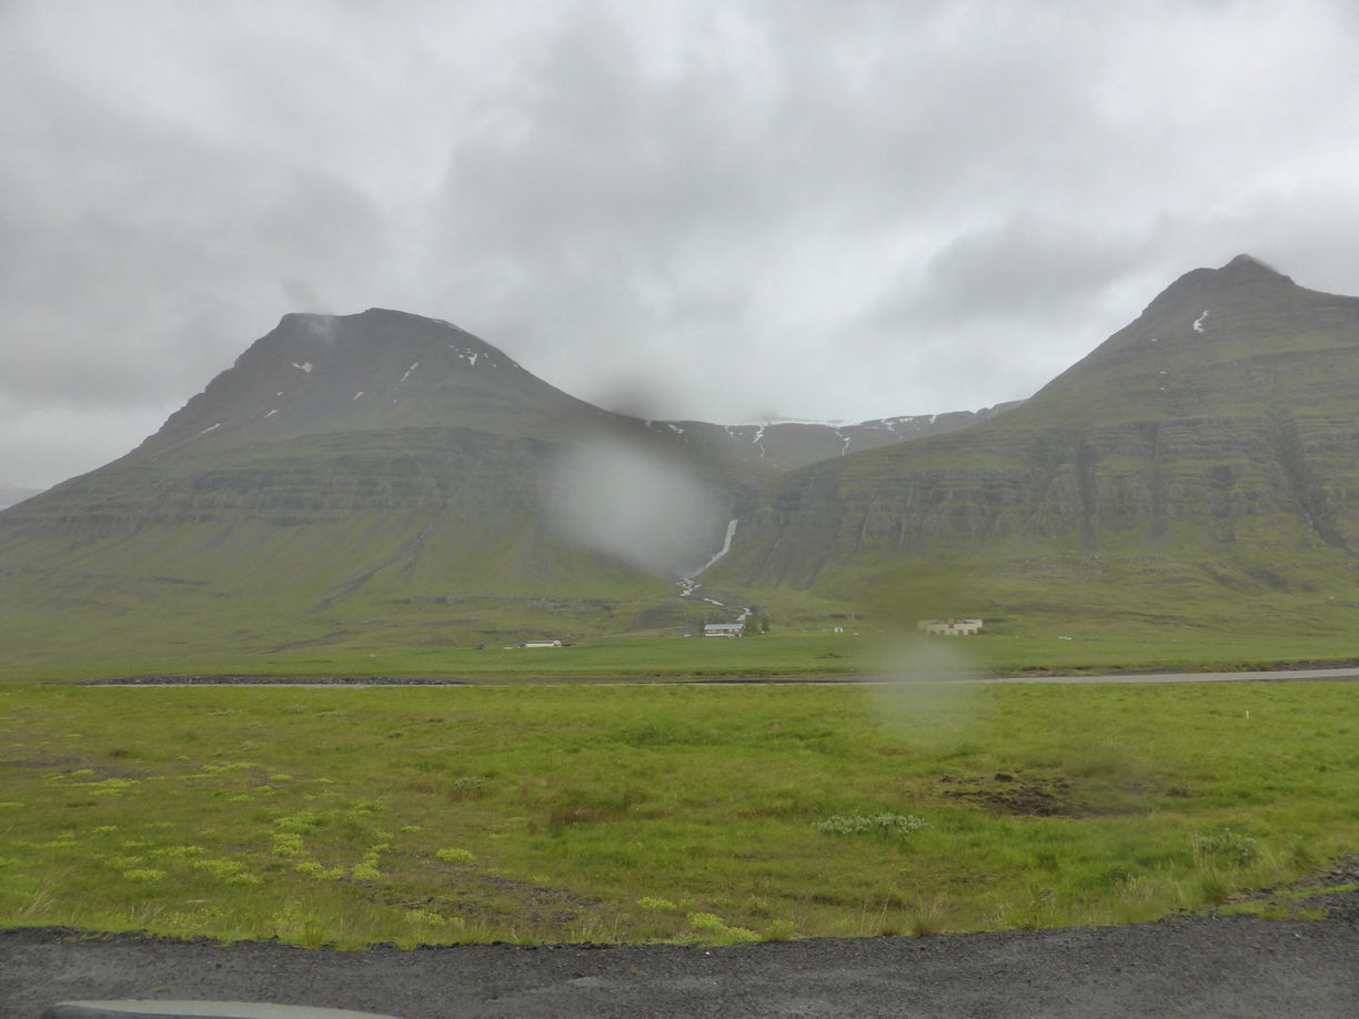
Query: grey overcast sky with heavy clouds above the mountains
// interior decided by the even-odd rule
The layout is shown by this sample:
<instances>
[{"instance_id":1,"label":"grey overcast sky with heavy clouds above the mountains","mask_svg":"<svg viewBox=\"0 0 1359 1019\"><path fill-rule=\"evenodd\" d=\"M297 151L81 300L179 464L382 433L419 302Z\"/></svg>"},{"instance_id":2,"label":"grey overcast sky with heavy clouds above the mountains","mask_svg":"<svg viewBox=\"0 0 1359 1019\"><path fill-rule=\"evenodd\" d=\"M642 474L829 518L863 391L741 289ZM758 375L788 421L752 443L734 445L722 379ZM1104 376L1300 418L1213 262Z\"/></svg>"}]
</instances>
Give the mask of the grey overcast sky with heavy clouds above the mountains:
<instances>
[{"instance_id":1,"label":"grey overcast sky with heavy clouds above the mountains","mask_svg":"<svg viewBox=\"0 0 1359 1019\"><path fill-rule=\"evenodd\" d=\"M1359 293L1359 5L0 0L0 484L289 311L723 424L1030 395L1181 273Z\"/></svg>"}]
</instances>

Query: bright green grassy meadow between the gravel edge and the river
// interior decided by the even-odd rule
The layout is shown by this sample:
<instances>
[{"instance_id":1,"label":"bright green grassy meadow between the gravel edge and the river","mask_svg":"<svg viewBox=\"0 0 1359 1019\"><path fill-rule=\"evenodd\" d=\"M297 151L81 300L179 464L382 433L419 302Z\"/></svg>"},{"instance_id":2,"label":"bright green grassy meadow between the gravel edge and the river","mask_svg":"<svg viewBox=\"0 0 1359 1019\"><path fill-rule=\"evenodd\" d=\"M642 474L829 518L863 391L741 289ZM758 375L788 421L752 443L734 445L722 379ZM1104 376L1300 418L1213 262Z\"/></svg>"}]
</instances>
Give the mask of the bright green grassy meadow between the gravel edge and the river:
<instances>
[{"instance_id":1,"label":"bright green grassy meadow between the gravel edge and the river","mask_svg":"<svg viewBox=\"0 0 1359 1019\"><path fill-rule=\"evenodd\" d=\"M1356 709L1347 683L11 683L0 925L357 947L1151 920L1356 851Z\"/></svg>"}]
</instances>

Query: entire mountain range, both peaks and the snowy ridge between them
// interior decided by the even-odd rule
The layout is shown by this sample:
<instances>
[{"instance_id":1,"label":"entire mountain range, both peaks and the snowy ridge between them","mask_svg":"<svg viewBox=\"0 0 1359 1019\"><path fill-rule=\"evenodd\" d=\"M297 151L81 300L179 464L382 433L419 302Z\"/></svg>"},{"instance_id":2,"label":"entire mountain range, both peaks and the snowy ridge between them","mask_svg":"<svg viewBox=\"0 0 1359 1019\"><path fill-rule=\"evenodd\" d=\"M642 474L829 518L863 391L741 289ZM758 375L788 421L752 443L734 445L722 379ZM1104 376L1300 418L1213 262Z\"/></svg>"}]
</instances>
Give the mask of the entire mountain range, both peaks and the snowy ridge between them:
<instances>
[{"instance_id":1,"label":"entire mountain range, both peaks and the snowy ridge between them","mask_svg":"<svg viewBox=\"0 0 1359 1019\"><path fill-rule=\"evenodd\" d=\"M367 658L756 601L1306 617L1359 602L1356 391L1359 299L1245 255L1021 405L855 425L644 420L447 322L285 315L136 450L0 512L0 645Z\"/></svg>"}]
</instances>

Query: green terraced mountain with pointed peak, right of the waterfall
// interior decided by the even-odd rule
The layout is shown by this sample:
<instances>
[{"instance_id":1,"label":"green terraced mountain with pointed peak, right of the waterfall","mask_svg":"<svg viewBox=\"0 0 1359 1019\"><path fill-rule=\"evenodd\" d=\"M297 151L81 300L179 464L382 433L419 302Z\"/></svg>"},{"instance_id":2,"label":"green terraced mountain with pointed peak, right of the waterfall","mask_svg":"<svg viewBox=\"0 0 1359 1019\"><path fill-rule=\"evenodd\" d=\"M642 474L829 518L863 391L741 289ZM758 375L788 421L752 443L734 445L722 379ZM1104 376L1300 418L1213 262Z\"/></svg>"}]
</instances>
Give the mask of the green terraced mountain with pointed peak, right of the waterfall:
<instances>
[{"instance_id":1,"label":"green terraced mountain with pointed peak, right of the waterfall","mask_svg":"<svg viewBox=\"0 0 1359 1019\"><path fill-rule=\"evenodd\" d=\"M946 560L1055 576L1140 560L1241 587L1303 586L1303 562L1352 577L1356 397L1359 299L1241 255L1182 276L1003 417L776 480L718 572L810 588Z\"/></svg>"}]
</instances>

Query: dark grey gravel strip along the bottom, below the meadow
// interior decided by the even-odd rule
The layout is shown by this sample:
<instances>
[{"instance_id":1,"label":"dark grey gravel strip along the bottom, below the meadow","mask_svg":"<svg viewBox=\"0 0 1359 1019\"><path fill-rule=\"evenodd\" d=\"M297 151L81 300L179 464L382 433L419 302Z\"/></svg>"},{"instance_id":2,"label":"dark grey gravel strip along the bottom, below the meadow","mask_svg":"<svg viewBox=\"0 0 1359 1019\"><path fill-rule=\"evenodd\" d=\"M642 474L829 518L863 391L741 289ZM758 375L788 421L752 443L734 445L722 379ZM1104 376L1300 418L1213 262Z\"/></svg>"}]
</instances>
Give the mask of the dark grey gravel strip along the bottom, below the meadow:
<instances>
[{"instance_id":1,"label":"dark grey gravel strip along the bottom, below the meadow","mask_svg":"<svg viewBox=\"0 0 1359 1019\"><path fill-rule=\"evenodd\" d=\"M1326 920L818 939L734 948L357 952L0 932L0 1018L69 999L243 1000L401 1016L1359 1015L1359 893Z\"/></svg>"}]
</instances>

